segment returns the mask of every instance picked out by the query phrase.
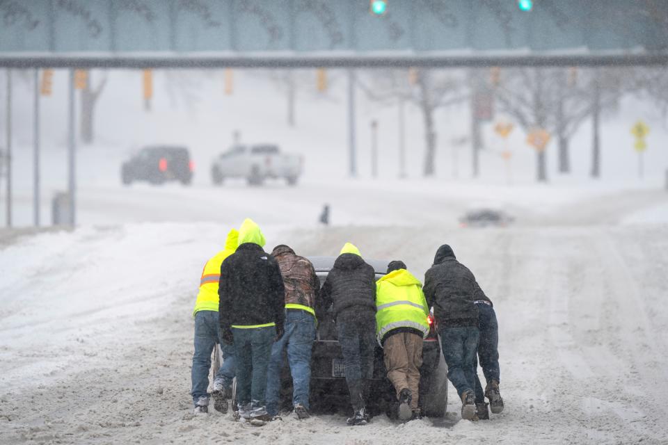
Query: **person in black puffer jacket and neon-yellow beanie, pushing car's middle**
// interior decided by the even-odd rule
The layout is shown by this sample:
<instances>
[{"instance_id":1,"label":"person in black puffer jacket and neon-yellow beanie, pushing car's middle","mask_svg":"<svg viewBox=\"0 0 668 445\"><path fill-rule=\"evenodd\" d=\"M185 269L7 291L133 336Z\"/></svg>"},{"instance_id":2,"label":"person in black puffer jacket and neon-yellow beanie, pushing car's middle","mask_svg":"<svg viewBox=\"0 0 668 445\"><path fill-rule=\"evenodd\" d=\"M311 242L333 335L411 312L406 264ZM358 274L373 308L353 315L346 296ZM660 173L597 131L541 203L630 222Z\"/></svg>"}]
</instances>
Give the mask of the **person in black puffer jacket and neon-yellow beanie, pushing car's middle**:
<instances>
[{"instance_id":1,"label":"person in black puffer jacket and neon-yellow beanie, pushing car's middle","mask_svg":"<svg viewBox=\"0 0 668 445\"><path fill-rule=\"evenodd\" d=\"M321 310L333 304L333 316L354 414L348 425L365 425L365 401L374 373L376 348L376 273L360 251L346 243L320 291Z\"/></svg>"}]
</instances>

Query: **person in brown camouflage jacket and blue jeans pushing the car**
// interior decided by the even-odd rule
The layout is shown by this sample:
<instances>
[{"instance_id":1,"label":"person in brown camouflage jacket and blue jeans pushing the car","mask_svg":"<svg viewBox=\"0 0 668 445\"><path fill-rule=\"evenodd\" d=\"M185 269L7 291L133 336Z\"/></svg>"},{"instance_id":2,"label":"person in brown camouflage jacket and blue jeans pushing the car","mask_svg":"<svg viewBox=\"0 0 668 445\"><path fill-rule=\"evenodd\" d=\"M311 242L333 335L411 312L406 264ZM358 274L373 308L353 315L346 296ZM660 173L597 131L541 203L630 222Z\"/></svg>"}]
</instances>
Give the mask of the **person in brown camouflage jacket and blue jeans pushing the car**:
<instances>
[{"instance_id":1,"label":"person in brown camouflage jacket and blue jeans pushing the car","mask_svg":"<svg viewBox=\"0 0 668 445\"><path fill-rule=\"evenodd\" d=\"M287 363L292 374L292 407L299 419L306 419L310 408L311 350L315 340L315 304L320 280L311 261L295 254L287 245L277 245L271 255L278 262L285 286L285 334L271 348L267 412L276 416L280 410L280 370L287 348Z\"/></svg>"}]
</instances>

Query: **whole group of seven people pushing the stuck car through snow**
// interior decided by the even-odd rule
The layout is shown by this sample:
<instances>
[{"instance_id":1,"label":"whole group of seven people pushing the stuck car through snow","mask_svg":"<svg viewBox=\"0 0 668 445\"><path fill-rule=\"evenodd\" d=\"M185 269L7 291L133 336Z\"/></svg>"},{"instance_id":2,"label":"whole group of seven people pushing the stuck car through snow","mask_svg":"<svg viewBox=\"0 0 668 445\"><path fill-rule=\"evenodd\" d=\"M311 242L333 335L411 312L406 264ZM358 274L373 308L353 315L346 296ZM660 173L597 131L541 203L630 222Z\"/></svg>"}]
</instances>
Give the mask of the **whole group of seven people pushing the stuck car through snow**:
<instances>
[{"instance_id":1,"label":"whole group of seven people pushing the stuck car through snow","mask_svg":"<svg viewBox=\"0 0 668 445\"><path fill-rule=\"evenodd\" d=\"M214 376L214 408L228 411L237 378L235 416L255 424L280 419L283 354L292 374L294 415L310 416L309 385L317 319L335 320L353 414L348 425L365 425L369 413L374 349L383 348L387 377L396 391L401 421L421 417L418 404L422 339L433 307L447 363L447 377L461 398L461 417L489 419L503 410L499 393L498 324L494 307L450 245L436 251L424 286L402 261L385 275L346 243L321 286L315 268L287 245L264 252L264 235L253 220L230 230L225 248L202 270L195 318L192 396L196 414L208 412L212 351L221 345L223 363ZM482 366L486 388L477 375ZM488 398L489 403L485 402ZM488 407L489 405L489 407Z\"/></svg>"}]
</instances>

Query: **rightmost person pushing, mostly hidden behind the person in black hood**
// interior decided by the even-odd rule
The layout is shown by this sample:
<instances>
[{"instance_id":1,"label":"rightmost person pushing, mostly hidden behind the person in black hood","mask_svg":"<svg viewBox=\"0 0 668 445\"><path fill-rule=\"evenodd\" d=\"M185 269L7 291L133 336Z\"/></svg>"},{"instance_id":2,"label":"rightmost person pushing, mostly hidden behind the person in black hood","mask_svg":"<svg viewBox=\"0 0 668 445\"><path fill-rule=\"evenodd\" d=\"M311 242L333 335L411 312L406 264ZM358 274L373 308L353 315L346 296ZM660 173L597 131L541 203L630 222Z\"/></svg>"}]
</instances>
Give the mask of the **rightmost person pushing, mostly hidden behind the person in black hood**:
<instances>
[{"instance_id":1,"label":"rightmost person pushing, mostly hidden behind the person in black hood","mask_svg":"<svg viewBox=\"0 0 668 445\"><path fill-rule=\"evenodd\" d=\"M485 375L487 386L482 391L482 385L475 372L475 407L478 419L489 419L489 411L485 397L489 400L489 407L493 414L500 414L503 411L503 399L499 391L500 367L499 367L499 325L496 321L496 312L492 301L480 289L478 283L475 283L475 294L473 303L478 308L478 324L480 332L480 341L478 343L478 355L482 372ZM478 362L475 361L477 369Z\"/></svg>"}]
</instances>

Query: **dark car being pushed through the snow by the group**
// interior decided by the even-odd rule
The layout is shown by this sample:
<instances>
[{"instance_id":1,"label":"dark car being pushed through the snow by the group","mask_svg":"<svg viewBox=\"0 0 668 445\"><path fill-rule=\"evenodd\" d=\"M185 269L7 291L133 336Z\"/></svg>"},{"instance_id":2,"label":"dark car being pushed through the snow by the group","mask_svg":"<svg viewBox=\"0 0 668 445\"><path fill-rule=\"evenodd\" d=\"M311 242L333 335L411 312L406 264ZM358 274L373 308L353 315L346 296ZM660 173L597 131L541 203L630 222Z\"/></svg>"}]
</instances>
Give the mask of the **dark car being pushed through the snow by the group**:
<instances>
[{"instance_id":1,"label":"dark car being pushed through the snow by the group","mask_svg":"<svg viewBox=\"0 0 668 445\"><path fill-rule=\"evenodd\" d=\"M334 265L335 257L310 257L321 284ZM365 259L376 271L376 280L385 275L390 261ZM420 368L420 407L429 417L443 417L447 405L447 366L440 353L436 323L429 316L429 335L422 343L423 363ZM371 400L367 407L372 415L395 412L396 393L386 377L383 348L376 346ZM292 378L287 359L281 375L281 407L292 409ZM349 411L348 387L344 377L343 355L336 338L331 308L324 320L319 320L317 337L311 357L310 405L312 412Z\"/></svg>"}]
</instances>

